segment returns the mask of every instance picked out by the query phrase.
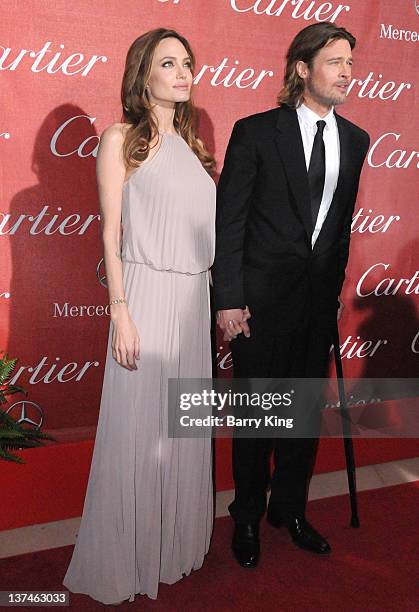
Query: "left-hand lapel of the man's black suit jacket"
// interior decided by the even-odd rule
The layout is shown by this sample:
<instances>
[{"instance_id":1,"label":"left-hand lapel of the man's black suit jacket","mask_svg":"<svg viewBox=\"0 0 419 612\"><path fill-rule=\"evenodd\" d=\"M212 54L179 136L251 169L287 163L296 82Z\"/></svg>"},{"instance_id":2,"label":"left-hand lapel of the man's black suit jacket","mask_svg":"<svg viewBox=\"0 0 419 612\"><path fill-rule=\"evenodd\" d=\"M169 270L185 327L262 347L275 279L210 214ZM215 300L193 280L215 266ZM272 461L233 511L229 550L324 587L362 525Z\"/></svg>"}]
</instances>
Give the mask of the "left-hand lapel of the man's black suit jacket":
<instances>
[{"instance_id":1,"label":"left-hand lapel of the man's black suit jacket","mask_svg":"<svg viewBox=\"0 0 419 612\"><path fill-rule=\"evenodd\" d=\"M313 221L311 218L310 191L303 141L296 111L285 106L281 107L278 112L276 127L275 143L284 165L290 189L294 195L299 216L311 242Z\"/></svg>"}]
</instances>

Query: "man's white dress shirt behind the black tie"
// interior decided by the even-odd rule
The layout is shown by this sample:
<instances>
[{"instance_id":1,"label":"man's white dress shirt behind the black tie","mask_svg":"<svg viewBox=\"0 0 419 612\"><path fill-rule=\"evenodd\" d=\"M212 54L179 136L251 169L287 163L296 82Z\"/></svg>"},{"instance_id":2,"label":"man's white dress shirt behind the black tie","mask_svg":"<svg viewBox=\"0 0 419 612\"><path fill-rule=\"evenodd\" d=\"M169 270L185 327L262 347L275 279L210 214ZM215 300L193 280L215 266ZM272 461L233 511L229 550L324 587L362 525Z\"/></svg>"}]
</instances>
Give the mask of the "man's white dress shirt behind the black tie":
<instances>
[{"instance_id":1,"label":"man's white dress shirt behind the black tie","mask_svg":"<svg viewBox=\"0 0 419 612\"><path fill-rule=\"evenodd\" d=\"M326 175L324 180L324 189L322 201L320 202L319 213L317 215L316 226L311 237L311 248L317 240L322 225L329 212L332 203L333 195L336 190L339 176L339 132L336 124L336 119L333 114L333 108L326 117L319 117L308 106L301 104L297 108L298 122L300 124L301 138L303 139L304 155L306 158L307 172L310 166L311 151L313 149L314 137L317 132L317 121L323 119L326 122L323 140L326 154Z\"/></svg>"}]
</instances>

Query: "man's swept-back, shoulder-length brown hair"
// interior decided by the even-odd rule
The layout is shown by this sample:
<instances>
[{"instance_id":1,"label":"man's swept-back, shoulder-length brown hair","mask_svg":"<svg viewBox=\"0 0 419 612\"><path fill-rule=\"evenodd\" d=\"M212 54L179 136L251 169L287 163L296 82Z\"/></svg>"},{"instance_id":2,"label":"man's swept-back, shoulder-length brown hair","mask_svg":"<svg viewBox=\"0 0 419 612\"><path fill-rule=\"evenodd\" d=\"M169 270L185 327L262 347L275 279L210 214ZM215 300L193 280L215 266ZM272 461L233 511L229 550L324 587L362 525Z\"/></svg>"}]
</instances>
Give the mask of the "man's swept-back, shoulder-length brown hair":
<instances>
[{"instance_id":1,"label":"man's swept-back, shoulder-length brown hair","mask_svg":"<svg viewBox=\"0 0 419 612\"><path fill-rule=\"evenodd\" d=\"M304 93L304 80L298 75L297 63L303 61L310 69L320 49L339 39L347 40L351 49L355 47L354 36L334 23L315 23L298 32L287 52L284 86L278 95L279 105L287 104L291 108L300 106Z\"/></svg>"}]
</instances>

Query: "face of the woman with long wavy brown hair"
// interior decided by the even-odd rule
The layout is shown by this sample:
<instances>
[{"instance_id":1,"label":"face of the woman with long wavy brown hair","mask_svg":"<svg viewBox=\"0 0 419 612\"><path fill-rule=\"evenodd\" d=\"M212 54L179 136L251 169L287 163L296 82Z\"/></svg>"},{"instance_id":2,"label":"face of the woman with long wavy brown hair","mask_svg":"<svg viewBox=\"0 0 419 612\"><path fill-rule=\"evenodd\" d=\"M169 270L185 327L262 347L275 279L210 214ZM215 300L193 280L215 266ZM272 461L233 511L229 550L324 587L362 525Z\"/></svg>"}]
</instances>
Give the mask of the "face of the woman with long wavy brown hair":
<instances>
[{"instance_id":1,"label":"face of the woman with long wavy brown hair","mask_svg":"<svg viewBox=\"0 0 419 612\"><path fill-rule=\"evenodd\" d=\"M189 100L191 59L177 38L165 38L157 45L147 86L152 104L173 107L175 102Z\"/></svg>"}]
</instances>

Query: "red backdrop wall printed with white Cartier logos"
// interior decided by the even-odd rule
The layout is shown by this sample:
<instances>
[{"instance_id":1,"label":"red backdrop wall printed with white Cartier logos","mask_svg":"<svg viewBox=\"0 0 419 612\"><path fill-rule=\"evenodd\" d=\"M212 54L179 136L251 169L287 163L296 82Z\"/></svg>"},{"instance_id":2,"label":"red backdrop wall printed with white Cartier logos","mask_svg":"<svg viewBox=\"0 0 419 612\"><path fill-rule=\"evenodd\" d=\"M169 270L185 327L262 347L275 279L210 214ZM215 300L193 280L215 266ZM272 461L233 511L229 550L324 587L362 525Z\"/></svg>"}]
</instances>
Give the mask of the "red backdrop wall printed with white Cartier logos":
<instances>
[{"instance_id":1,"label":"red backdrop wall printed with white Cartier logos","mask_svg":"<svg viewBox=\"0 0 419 612\"><path fill-rule=\"evenodd\" d=\"M95 153L99 134L120 120L127 49L157 26L175 28L195 50L199 132L218 172L234 121L275 105L300 29L333 20L357 37L339 112L370 133L371 148L343 291L344 368L351 377L417 375L418 12L414 0L0 7L0 348L19 357L14 382L42 410L45 429L58 440L83 439L97 421L109 319ZM226 375L229 348L217 346Z\"/></svg>"}]
</instances>

